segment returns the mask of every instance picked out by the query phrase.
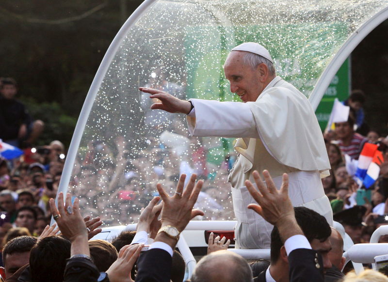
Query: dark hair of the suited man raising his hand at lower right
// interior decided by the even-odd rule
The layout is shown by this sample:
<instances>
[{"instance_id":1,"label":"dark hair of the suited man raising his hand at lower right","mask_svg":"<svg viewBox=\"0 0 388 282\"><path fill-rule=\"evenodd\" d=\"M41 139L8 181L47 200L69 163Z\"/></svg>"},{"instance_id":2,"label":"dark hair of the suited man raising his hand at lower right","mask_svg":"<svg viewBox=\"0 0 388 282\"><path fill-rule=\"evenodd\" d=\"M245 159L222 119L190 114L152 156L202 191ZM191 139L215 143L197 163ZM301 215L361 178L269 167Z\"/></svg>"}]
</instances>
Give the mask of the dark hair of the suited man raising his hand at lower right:
<instances>
[{"instance_id":1,"label":"dark hair of the suited man raising his hand at lower right","mask_svg":"<svg viewBox=\"0 0 388 282\"><path fill-rule=\"evenodd\" d=\"M295 219L308 242L318 239L321 242L331 235L331 229L326 219L316 211L304 206L294 207ZM280 256L280 248L284 242L280 239L279 230L274 227L271 233L271 261L276 262Z\"/></svg>"}]
</instances>

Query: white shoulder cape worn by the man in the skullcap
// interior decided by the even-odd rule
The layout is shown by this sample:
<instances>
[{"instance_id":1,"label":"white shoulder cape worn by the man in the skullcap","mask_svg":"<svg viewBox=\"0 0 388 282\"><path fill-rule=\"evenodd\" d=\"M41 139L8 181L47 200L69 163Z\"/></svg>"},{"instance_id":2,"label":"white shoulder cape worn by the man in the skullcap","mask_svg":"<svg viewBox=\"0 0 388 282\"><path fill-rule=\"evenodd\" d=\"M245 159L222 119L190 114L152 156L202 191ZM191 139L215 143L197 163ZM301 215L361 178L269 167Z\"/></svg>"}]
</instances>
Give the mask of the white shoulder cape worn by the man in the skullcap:
<instances>
[{"instance_id":1,"label":"white shoulder cape worn by the man in the skullcap","mask_svg":"<svg viewBox=\"0 0 388 282\"><path fill-rule=\"evenodd\" d=\"M323 135L306 96L280 77L274 78L256 102L247 102L261 141L281 164L329 175ZM235 149L252 162L254 139L239 138Z\"/></svg>"}]
</instances>

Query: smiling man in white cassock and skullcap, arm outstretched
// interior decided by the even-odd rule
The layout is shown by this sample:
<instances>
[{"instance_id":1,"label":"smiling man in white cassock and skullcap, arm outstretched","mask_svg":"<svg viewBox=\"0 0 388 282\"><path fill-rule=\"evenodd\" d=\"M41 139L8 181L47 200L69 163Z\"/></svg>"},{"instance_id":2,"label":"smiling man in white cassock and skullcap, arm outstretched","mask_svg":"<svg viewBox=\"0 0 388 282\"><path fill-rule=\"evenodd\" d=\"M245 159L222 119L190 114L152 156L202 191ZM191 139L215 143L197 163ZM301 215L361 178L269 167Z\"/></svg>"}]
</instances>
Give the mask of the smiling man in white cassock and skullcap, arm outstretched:
<instances>
[{"instance_id":1,"label":"smiling man in white cassock and skullcap, arm outstretched","mask_svg":"<svg viewBox=\"0 0 388 282\"><path fill-rule=\"evenodd\" d=\"M256 203L245 187L252 172L268 170L280 188L282 174L289 175L294 206L306 206L333 225L333 214L321 178L330 169L321 129L305 95L276 76L268 50L243 43L229 53L224 64L230 91L242 102L180 100L168 93L140 88L161 103L151 109L187 114L193 136L238 138L239 157L228 181L232 186L237 248L270 248L273 226L247 205ZM261 175L262 177L262 175ZM279 203L280 204L280 203Z\"/></svg>"}]
</instances>

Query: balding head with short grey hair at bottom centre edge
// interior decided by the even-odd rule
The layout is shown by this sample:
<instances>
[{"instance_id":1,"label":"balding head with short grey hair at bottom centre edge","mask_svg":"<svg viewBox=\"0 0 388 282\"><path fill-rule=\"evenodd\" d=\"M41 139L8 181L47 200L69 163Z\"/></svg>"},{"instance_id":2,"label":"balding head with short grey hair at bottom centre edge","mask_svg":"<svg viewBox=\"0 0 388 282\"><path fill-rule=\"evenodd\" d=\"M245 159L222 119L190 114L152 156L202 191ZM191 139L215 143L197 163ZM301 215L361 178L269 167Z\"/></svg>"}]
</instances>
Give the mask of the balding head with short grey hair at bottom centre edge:
<instances>
[{"instance_id":1,"label":"balding head with short grey hair at bottom centre edge","mask_svg":"<svg viewBox=\"0 0 388 282\"><path fill-rule=\"evenodd\" d=\"M253 278L251 268L242 256L231 251L215 251L198 262L191 281L252 282Z\"/></svg>"}]
</instances>

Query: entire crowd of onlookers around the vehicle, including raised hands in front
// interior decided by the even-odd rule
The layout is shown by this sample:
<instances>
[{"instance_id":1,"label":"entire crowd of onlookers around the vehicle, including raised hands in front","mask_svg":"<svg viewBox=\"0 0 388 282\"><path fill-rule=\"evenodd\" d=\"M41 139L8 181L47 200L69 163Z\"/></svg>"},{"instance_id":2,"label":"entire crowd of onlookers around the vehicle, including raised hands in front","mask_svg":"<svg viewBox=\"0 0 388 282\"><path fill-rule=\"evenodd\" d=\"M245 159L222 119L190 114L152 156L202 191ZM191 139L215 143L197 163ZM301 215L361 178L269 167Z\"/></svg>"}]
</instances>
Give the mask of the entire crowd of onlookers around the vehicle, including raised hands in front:
<instances>
[{"instance_id":1,"label":"entire crowd of onlookers around the vehicle, including raised hands in front","mask_svg":"<svg viewBox=\"0 0 388 282\"><path fill-rule=\"evenodd\" d=\"M0 89L0 139L24 150L21 157L0 158L0 264L6 281L181 282L185 263L175 247L189 220L234 219L227 178L237 153L227 140L214 153L218 138L187 137L183 121L173 115L167 116L172 121L168 126L148 125L157 125L158 134L147 136L135 154L123 136L110 146L90 141L77 156L69 184L81 200L59 193L56 206L65 146L52 141L33 147L44 123L33 121L16 100L15 80L2 78ZM330 176L322 179L324 192L334 220L354 243L369 243L376 228L388 224L388 139L369 130L364 102L362 92L353 92L343 102L350 107L348 120L323 135L331 166ZM152 121L160 116L147 115ZM378 144L384 160L373 187L364 189L347 162L357 160L368 142ZM343 234L319 213L292 207L288 176L283 175L280 188L268 172L262 173L266 186L259 173L252 175L259 191L249 181L245 185L258 204L248 208L275 226L271 260L248 264L226 251L230 240L211 234L208 255L197 264L191 281L358 281L353 274L343 278L340 271ZM149 204L142 211L145 203ZM52 216L58 227L49 226ZM103 222L138 224L136 232L124 231L112 243L90 240L101 232ZM150 241L146 251L143 247ZM388 242L388 236L380 242ZM362 275L370 279L365 281L388 281L375 272Z\"/></svg>"}]
</instances>

